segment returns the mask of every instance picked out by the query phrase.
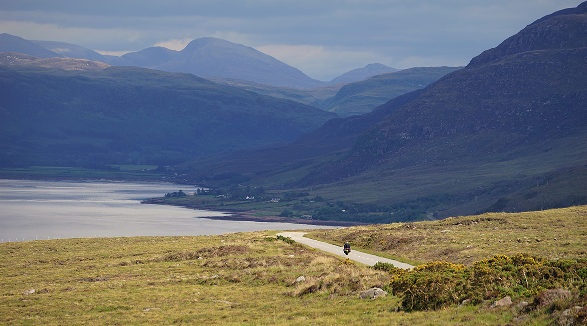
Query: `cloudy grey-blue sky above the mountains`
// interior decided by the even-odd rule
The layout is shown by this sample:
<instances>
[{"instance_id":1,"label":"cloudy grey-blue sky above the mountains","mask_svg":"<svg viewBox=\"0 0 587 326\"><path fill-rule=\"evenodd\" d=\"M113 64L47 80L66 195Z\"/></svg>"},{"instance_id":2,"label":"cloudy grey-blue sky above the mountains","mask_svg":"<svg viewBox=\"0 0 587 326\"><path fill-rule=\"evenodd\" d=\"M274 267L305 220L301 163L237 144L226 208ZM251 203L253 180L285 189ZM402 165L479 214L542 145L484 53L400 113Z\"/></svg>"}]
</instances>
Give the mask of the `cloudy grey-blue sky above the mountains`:
<instances>
[{"instance_id":1,"label":"cloudy grey-blue sky above the mountains","mask_svg":"<svg viewBox=\"0 0 587 326\"><path fill-rule=\"evenodd\" d=\"M583 0L0 0L0 33L107 55L211 36L329 81L369 63L465 66Z\"/></svg>"}]
</instances>

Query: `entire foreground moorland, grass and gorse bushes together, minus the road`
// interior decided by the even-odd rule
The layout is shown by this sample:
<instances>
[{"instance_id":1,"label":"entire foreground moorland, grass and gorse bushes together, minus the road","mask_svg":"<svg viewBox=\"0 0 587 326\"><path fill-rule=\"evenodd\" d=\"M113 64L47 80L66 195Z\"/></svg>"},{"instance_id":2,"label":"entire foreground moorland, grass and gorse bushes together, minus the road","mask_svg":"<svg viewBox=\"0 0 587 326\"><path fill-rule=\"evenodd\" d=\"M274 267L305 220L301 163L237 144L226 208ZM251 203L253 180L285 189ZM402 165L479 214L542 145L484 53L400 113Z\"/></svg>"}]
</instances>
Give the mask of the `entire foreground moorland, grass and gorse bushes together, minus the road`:
<instances>
[{"instance_id":1,"label":"entire foreground moorland, grass and gorse bushes together, minus the road","mask_svg":"<svg viewBox=\"0 0 587 326\"><path fill-rule=\"evenodd\" d=\"M402 273L277 232L3 242L0 322L580 325L587 317L585 209L306 230L419 265ZM410 280L426 295L410 296ZM361 296L372 287L387 295ZM504 296L511 305L492 307Z\"/></svg>"}]
</instances>

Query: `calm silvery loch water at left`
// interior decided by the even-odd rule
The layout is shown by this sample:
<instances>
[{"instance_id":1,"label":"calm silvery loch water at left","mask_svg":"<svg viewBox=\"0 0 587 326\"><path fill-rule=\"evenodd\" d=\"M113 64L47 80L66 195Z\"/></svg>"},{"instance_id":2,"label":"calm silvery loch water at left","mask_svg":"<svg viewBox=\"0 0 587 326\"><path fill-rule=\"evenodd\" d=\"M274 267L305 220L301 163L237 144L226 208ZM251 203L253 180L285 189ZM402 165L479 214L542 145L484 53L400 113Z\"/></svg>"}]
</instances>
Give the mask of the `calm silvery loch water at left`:
<instances>
[{"instance_id":1,"label":"calm silvery loch water at left","mask_svg":"<svg viewBox=\"0 0 587 326\"><path fill-rule=\"evenodd\" d=\"M217 235L325 226L205 219L224 213L141 204L194 186L0 179L0 241L65 237Z\"/></svg>"}]
</instances>

